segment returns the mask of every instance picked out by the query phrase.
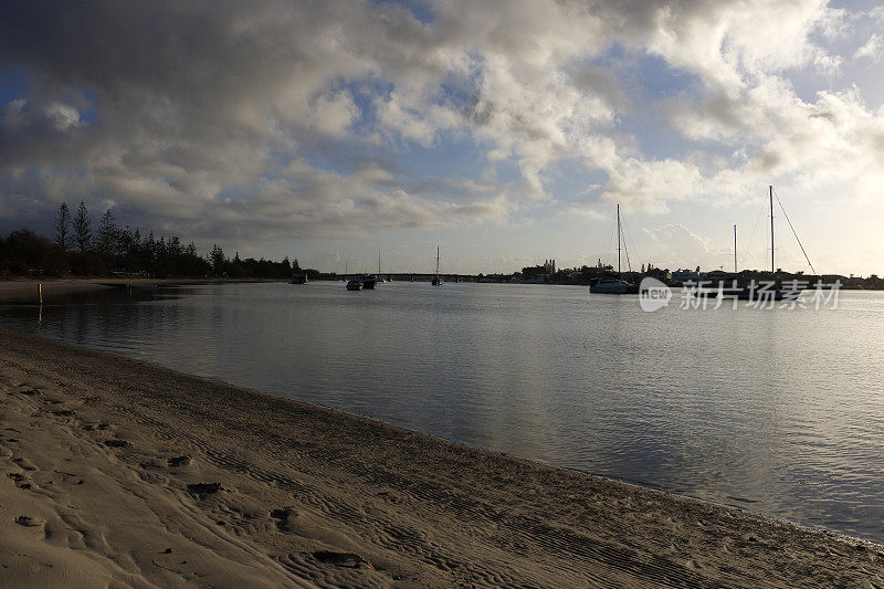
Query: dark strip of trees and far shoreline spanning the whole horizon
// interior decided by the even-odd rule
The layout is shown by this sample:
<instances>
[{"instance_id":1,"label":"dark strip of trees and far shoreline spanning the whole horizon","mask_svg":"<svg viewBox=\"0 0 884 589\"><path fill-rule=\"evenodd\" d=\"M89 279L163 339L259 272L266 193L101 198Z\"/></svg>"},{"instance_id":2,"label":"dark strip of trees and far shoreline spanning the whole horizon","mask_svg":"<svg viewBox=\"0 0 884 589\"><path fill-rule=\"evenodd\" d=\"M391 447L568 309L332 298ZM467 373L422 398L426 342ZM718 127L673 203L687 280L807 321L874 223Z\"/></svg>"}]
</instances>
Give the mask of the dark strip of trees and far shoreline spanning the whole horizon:
<instances>
[{"instance_id":1,"label":"dark strip of trees and far shoreline spanning the whole horizon","mask_svg":"<svg viewBox=\"0 0 884 589\"><path fill-rule=\"evenodd\" d=\"M183 278L183 280L290 280L295 276L315 280L340 280L365 274L302 269L297 259L292 261L285 256L280 262L260 257L241 259L239 251L229 257L223 249L213 244L206 254L200 254L197 244L185 242L177 235L155 238L152 231L143 236L140 230L128 225L119 227L113 211L102 214L98 227L93 232L92 220L85 201L80 202L76 214L73 214L63 202L54 219L55 234L50 240L29 229L13 231L7 238L0 235L0 278L12 276L43 277L88 277L107 276L120 278ZM429 281L432 276L425 272L406 271L383 273L378 261L378 274L389 280ZM345 264L346 269L346 264ZM555 260L546 260L543 265L523 267L517 272L493 274L442 274L445 282L492 282L492 283L527 283L527 284L571 284L589 285L598 280L619 278L639 283L650 276L664 282L681 283L676 275L687 276L690 281L706 281L717 284L719 281L730 284L737 281L749 284L751 281L776 281L780 283L797 281L813 287L815 283L832 285L845 290L884 290L884 277L871 274L867 277L844 276L841 274L812 275L803 272L783 272L743 270L728 273L722 270L699 272L691 270L670 271L655 267L648 262L641 264L641 271L629 269L622 274L614 272L613 266L598 265L573 269L556 267ZM678 284L681 285L681 284Z\"/></svg>"}]
</instances>

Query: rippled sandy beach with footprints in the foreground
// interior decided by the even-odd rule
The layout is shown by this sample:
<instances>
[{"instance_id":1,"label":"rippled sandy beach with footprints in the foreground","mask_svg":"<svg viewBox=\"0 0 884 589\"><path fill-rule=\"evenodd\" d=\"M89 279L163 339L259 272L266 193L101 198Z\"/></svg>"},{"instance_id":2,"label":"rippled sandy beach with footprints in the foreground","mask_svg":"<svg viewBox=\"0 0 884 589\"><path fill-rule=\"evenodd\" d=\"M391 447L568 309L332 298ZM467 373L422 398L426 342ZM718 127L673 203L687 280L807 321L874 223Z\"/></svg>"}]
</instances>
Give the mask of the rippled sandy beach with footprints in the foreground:
<instances>
[{"instance_id":1,"label":"rippled sandy beach with footprints in the foreground","mask_svg":"<svg viewBox=\"0 0 884 589\"><path fill-rule=\"evenodd\" d=\"M0 329L2 587L882 587L884 549Z\"/></svg>"}]
</instances>

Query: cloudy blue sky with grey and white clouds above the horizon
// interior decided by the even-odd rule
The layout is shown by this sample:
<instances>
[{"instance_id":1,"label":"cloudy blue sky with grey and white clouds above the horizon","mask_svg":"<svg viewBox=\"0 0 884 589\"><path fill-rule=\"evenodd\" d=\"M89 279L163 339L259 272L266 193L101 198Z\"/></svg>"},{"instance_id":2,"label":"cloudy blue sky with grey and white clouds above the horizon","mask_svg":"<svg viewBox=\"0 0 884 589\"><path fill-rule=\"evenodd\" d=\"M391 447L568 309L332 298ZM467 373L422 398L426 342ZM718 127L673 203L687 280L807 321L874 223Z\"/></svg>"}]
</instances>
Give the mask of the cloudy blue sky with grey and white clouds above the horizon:
<instances>
[{"instance_id":1,"label":"cloudy blue sky with grey and white clouds above the horizon","mask_svg":"<svg viewBox=\"0 0 884 589\"><path fill-rule=\"evenodd\" d=\"M884 274L884 6L3 2L0 233L60 203L343 272ZM777 203L777 266L809 271ZM625 260L623 261L627 265Z\"/></svg>"}]
</instances>

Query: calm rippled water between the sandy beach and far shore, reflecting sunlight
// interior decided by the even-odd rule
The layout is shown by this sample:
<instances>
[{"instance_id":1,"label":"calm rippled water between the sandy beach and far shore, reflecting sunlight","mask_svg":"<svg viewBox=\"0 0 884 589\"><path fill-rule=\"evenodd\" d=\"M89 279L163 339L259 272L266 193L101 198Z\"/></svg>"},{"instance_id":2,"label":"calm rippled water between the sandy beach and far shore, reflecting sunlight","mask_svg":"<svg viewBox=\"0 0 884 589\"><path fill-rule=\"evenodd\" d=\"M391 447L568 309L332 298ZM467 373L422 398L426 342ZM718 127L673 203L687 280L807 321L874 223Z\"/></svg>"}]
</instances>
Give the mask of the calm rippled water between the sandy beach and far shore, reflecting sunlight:
<instances>
[{"instance_id":1,"label":"calm rippled water between the sandy beach and far shore, reflecting sunlight","mask_svg":"<svg viewBox=\"0 0 884 589\"><path fill-rule=\"evenodd\" d=\"M585 287L114 292L0 323L884 541L884 294L643 313Z\"/></svg>"}]
</instances>

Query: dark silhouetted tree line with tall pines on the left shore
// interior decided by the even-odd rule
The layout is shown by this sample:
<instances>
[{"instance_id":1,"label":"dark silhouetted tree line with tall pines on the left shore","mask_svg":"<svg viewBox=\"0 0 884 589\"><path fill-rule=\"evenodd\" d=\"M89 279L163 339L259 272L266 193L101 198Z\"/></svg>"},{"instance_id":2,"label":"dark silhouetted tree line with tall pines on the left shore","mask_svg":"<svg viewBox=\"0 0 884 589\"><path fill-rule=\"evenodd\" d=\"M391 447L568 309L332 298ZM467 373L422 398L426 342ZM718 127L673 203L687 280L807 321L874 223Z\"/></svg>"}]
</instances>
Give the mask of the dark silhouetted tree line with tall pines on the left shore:
<instances>
[{"instance_id":1,"label":"dark silhouetted tree line with tall pines on the left shore","mask_svg":"<svg viewBox=\"0 0 884 589\"><path fill-rule=\"evenodd\" d=\"M201 256L191 241L185 244L177 235L159 238L138 228L119 227L110 209L93 229L85 201L71 212L63 202L55 213L53 239L28 229L0 235L0 275L46 276L152 276L152 277L234 277L288 278L299 271L297 260L290 263L259 259L232 259L214 245Z\"/></svg>"}]
</instances>

